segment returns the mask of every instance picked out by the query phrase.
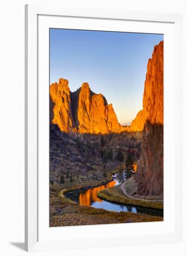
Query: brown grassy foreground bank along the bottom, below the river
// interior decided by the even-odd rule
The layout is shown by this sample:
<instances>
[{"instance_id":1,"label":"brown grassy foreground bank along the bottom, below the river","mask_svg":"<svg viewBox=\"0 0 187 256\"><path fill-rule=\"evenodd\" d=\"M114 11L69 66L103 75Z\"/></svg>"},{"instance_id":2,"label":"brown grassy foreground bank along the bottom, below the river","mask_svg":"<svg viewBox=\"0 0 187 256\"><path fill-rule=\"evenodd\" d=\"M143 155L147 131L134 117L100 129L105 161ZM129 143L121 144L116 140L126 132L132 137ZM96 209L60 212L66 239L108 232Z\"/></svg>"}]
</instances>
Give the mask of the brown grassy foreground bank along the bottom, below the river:
<instances>
[{"instance_id":1,"label":"brown grassy foreground bank along the bottom, below the river","mask_svg":"<svg viewBox=\"0 0 187 256\"><path fill-rule=\"evenodd\" d=\"M81 206L66 198L64 189L57 196L57 191L50 195L50 227L112 224L128 222L162 221L162 217L148 216L129 212L114 212Z\"/></svg>"}]
</instances>

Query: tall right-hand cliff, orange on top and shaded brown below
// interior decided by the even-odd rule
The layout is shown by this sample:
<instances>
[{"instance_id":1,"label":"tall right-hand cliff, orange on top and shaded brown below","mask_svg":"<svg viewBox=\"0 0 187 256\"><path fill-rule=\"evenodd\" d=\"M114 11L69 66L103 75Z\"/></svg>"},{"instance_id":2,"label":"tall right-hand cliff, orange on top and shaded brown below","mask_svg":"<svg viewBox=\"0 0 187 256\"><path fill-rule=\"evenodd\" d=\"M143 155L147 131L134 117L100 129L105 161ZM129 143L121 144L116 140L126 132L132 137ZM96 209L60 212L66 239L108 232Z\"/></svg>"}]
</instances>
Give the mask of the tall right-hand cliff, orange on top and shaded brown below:
<instances>
[{"instance_id":1,"label":"tall right-hand cliff, orange on top and shaded brown below","mask_svg":"<svg viewBox=\"0 0 187 256\"><path fill-rule=\"evenodd\" d=\"M143 110L132 123L134 127L138 127L138 118L142 116L141 154L134 175L140 195L163 193L163 96L163 41L161 41L154 47L152 59L149 59L147 64Z\"/></svg>"}]
</instances>

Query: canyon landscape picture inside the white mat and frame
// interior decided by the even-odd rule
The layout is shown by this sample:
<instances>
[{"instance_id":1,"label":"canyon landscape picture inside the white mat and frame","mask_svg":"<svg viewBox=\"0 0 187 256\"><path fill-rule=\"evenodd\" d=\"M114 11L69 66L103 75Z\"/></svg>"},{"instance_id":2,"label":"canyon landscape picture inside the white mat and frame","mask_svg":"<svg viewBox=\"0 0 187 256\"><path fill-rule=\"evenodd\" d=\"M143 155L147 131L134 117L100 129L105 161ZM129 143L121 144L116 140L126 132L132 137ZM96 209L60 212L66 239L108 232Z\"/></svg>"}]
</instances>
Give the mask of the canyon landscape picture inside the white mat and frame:
<instances>
[{"instance_id":1,"label":"canyon landscape picture inside the white mat and frame","mask_svg":"<svg viewBox=\"0 0 187 256\"><path fill-rule=\"evenodd\" d=\"M163 221L164 35L49 28L49 57L49 227Z\"/></svg>"}]
</instances>

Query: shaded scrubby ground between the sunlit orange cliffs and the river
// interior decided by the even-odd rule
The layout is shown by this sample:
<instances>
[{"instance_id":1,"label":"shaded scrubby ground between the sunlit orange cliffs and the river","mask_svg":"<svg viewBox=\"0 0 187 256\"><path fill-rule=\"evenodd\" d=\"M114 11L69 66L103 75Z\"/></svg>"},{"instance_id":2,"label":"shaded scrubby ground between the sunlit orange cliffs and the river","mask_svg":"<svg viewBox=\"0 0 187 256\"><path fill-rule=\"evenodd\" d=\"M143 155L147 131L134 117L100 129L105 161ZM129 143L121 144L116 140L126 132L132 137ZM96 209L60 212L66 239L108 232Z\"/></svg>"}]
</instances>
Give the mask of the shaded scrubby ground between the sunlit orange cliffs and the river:
<instances>
[{"instance_id":1,"label":"shaded scrubby ground between the sunlit orange cliffs and the river","mask_svg":"<svg viewBox=\"0 0 187 256\"><path fill-rule=\"evenodd\" d=\"M136 162L140 156L140 147L140 132L109 135L67 134L61 132L57 125L50 125L50 181L59 183L60 176L63 175L63 188L101 181L108 172L125 162L127 154L131 154ZM119 148L124 155L122 162L115 159ZM104 159L108 151L112 152L112 157ZM73 180L69 184L71 175Z\"/></svg>"}]
</instances>

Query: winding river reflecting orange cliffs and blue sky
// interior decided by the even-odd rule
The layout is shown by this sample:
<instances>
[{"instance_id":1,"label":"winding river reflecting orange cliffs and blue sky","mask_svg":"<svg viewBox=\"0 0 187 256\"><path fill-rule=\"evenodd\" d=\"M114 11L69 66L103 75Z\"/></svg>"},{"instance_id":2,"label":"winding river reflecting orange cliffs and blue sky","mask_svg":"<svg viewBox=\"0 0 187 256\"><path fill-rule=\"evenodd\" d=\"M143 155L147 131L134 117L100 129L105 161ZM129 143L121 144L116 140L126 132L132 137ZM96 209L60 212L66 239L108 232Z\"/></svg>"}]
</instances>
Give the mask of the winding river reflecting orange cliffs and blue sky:
<instances>
[{"instance_id":1,"label":"winding river reflecting orange cliffs and blue sky","mask_svg":"<svg viewBox=\"0 0 187 256\"><path fill-rule=\"evenodd\" d=\"M163 210L152 209L141 206L134 206L129 204L109 202L103 200L97 196L97 192L102 189L111 188L113 186L119 185L125 180L124 171L120 171L113 175L113 181L108 182L106 185L101 185L92 189L81 189L76 191L70 191L66 193L66 197L80 205L92 206L94 208L100 208L105 210L111 210L116 212L134 212L134 213L144 213L152 216L163 216Z\"/></svg>"}]
</instances>

